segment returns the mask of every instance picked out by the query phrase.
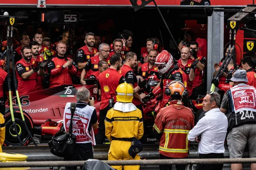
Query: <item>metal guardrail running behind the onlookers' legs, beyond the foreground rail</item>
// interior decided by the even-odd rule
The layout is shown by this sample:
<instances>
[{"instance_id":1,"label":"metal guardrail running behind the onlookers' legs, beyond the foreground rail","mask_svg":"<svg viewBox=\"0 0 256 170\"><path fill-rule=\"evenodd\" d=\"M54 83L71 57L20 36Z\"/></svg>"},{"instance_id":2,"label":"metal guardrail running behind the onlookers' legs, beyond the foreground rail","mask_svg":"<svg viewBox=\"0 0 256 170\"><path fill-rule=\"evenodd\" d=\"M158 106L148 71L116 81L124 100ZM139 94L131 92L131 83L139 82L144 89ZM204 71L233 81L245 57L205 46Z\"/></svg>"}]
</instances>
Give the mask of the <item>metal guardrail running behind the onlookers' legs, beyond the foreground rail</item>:
<instances>
[{"instance_id":1,"label":"metal guardrail running behind the onlookers' legs, beyond the foreground rail","mask_svg":"<svg viewBox=\"0 0 256 170\"><path fill-rule=\"evenodd\" d=\"M93 146L93 158L108 160L110 145ZM227 144L224 145L224 158L229 158ZM143 150L139 153L145 159L159 159L159 144L143 144ZM63 158L52 155L48 146L3 147L3 152L15 152L28 156L27 161L62 161ZM199 158L198 143L189 143L189 159ZM244 158L249 158L248 150L244 150Z\"/></svg>"}]
</instances>

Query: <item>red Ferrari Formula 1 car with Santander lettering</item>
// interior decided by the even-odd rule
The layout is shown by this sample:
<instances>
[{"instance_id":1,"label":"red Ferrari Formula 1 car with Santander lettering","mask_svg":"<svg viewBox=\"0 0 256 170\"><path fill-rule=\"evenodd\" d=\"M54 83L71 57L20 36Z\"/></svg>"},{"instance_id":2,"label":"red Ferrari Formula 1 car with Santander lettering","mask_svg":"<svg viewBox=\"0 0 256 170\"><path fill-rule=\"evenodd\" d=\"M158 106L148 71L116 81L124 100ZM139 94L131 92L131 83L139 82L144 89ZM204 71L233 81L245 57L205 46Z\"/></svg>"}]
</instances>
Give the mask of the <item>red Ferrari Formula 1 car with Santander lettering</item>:
<instances>
[{"instance_id":1,"label":"red Ferrari Formula 1 car with Santander lettering","mask_svg":"<svg viewBox=\"0 0 256 170\"><path fill-rule=\"evenodd\" d=\"M156 84L157 82L154 82L154 85ZM48 88L20 96L20 102L27 126L30 133L35 135L39 142L48 142L55 133L63 130L62 120L65 105L67 102L76 102L76 91L80 87L81 85L61 85L55 88ZM100 101L97 100L97 85L86 85L85 87L89 89L91 96L95 99L94 107L96 108L99 118ZM14 97L12 102L17 103L17 97ZM150 113L154 110L156 102L155 99L152 99L143 106L147 143L154 143L156 141L152 133L154 118L153 116L148 116L151 115ZM195 109L198 110L201 106L196 105L197 103L193 104ZM13 110L17 131L23 141L22 144L28 145L31 142L31 139L23 126L20 110L18 106L15 106ZM19 146L20 142L17 139L12 124L10 109L7 105L4 118L6 119L6 138L4 145ZM96 133L97 131L95 131L95 134ZM106 142L108 142L107 139Z\"/></svg>"}]
</instances>

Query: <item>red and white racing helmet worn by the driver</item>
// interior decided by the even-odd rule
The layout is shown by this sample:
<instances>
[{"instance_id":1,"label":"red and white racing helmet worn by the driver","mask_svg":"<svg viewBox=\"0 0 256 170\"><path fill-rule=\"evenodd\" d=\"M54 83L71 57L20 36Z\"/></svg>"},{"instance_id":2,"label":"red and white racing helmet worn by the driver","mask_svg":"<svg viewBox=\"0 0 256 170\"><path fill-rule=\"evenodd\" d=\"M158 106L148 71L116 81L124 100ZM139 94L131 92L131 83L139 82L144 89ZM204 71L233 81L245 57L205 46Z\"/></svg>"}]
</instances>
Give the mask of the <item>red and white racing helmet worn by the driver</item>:
<instances>
[{"instance_id":1,"label":"red and white racing helmet worn by the driver","mask_svg":"<svg viewBox=\"0 0 256 170\"><path fill-rule=\"evenodd\" d=\"M161 51L156 58L155 66L158 72L165 74L173 65L173 57L168 51Z\"/></svg>"}]
</instances>

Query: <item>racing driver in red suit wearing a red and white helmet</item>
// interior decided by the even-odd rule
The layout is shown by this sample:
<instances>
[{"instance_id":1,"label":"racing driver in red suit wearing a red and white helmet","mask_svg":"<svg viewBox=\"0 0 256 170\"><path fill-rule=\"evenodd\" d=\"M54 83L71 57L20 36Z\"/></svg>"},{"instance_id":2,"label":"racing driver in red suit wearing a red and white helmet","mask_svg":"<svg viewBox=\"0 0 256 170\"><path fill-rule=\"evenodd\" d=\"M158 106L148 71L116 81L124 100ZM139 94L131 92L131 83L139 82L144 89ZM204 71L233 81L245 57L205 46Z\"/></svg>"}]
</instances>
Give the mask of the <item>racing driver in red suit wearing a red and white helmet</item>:
<instances>
[{"instance_id":1,"label":"racing driver in red suit wearing a red and white helmet","mask_svg":"<svg viewBox=\"0 0 256 170\"><path fill-rule=\"evenodd\" d=\"M158 96L160 99L160 109L163 108L170 99L164 92L169 87L169 83L173 80L177 80L183 82L183 84L187 85L187 77L184 71L182 71L177 65L174 65L174 60L172 54L168 51L161 51L156 58L155 66L158 68L159 73L162 74L162 79L157 87L149 93L146 98L154 98L154 96ZM158 110L157 110L158 112Z\"/></svg>"}]
</instances>

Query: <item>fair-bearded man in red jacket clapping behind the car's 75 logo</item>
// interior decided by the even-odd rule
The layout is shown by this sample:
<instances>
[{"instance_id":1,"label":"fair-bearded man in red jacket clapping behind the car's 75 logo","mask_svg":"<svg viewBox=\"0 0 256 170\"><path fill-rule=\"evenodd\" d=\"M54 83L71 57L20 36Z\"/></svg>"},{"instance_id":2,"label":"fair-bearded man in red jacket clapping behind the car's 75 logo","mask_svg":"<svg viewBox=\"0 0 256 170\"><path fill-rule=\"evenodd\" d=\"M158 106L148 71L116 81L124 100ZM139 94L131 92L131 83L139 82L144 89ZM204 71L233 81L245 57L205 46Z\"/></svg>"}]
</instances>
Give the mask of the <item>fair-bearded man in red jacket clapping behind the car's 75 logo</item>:
<instances>
[{"instance_id":1,"label":"fair-bearded man in red jacket clapping behind the car's 75 logo","mask_svg":"<svg viewBox=\"0 0 256 170\"><path fill-rule=\"evenodd\" d=\"M65 57L66 43L59 41L56 50L57 55L47 63L47 70L51 75L49 88L59 85L72 85L71 75L76 75L77 72L73 59Z\"/></svg>"}]
</instances>

